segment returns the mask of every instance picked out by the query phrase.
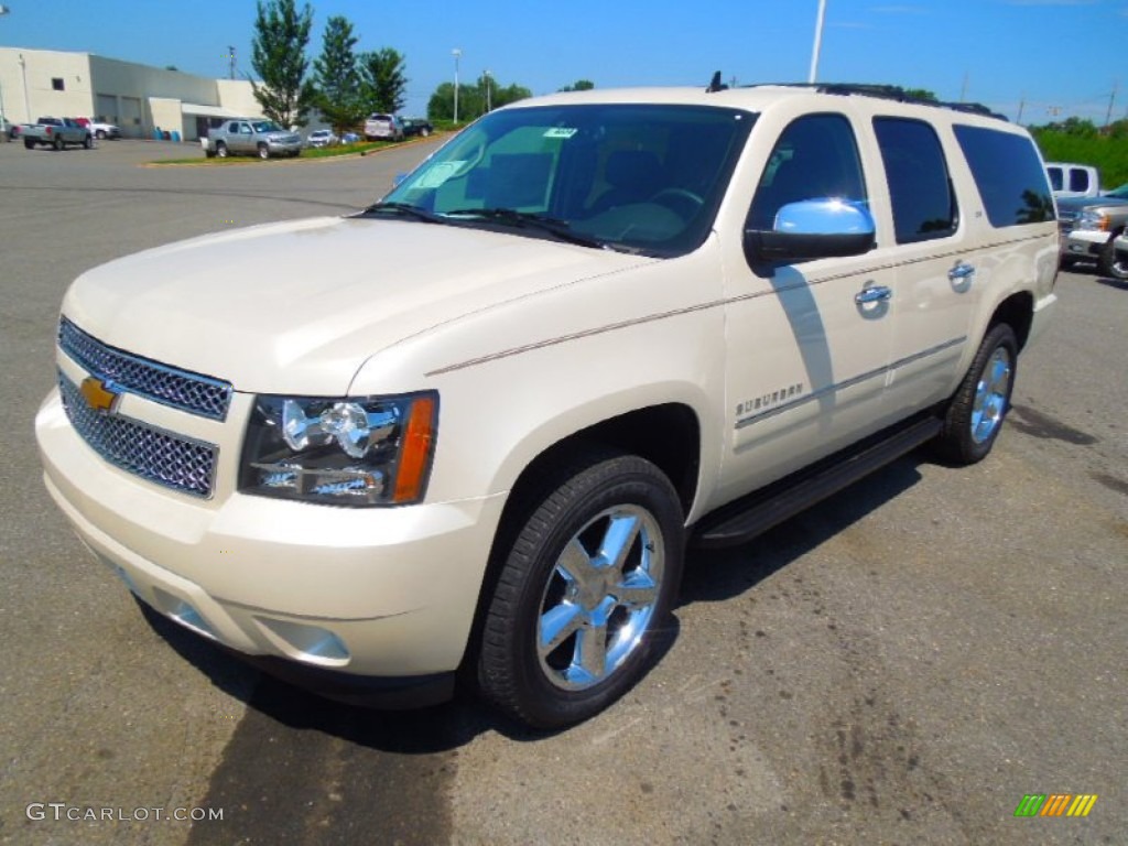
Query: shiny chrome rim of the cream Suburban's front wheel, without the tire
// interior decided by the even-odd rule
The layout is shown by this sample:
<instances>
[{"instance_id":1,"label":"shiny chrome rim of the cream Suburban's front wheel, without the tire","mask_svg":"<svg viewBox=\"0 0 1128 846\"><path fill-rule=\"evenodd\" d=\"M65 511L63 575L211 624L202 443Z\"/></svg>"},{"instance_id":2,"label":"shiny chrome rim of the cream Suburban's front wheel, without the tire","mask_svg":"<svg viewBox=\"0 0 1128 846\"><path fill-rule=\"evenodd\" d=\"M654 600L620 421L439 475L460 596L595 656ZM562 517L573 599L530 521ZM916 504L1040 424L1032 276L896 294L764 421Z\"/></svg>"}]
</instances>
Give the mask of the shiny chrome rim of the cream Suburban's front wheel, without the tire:
<instances>
[{"instance_id":1,"label":"shiny chrome rim of the cream Suburban's front wheel, without the tire","mask_svg":"<svg viewBox=\"0 0 1128 846\"><path fill-rule=\"evenodd\" d=\"M658 605L663 547L658 521L638 505L609 509L569 540L537 623L537 655L553 685L598 685L638 647Z\"/></svg>"}]
</instances>

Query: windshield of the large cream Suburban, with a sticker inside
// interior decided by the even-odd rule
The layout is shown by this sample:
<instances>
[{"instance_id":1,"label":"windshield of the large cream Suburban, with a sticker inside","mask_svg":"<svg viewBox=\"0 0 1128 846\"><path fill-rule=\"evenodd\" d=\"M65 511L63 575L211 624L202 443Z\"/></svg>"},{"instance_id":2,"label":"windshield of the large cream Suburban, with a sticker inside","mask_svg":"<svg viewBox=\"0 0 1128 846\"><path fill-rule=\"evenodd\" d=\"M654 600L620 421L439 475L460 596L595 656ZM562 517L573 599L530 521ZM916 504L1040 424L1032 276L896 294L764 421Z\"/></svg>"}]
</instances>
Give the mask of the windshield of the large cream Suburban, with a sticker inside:
<instances>
[{"instance_id":1,"label":"windshield of the large cream Suburban, with a sticker inside","mask_svg":"<svg viewBox=\"0 0 1128 846\"><path fill-rule=\"evenodd\" d=\"M681 255L705 239L755 117L678 105L493 112L385 197L440 222L505 228L544 219L592 246Z\"/></svg>"}]
</instances>

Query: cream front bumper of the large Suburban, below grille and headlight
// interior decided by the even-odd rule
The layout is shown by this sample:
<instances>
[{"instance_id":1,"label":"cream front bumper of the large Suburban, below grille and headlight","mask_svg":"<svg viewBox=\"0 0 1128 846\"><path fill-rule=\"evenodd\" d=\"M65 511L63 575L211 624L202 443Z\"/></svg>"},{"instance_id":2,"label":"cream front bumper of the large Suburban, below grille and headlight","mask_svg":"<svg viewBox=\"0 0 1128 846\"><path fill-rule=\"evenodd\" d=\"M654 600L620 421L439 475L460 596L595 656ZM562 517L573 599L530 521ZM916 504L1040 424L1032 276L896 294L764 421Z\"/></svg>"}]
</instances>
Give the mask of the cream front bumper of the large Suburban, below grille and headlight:
<instances>
[{"instance_id":1,"label":"cream front bumper of the large Suburban, below grille and headlight","mask_svg":"<svg viewBox=\"0 0 1128 846\"><path fill-rule=\"evenodd\" d=\"M307 686L380 677L449 690L434 677L461 662L503 495L388 509L200 500L104 461L58 390L36 437L47 491L79 537L160 614L325 682Z\"/></svg>"}]
</instances>

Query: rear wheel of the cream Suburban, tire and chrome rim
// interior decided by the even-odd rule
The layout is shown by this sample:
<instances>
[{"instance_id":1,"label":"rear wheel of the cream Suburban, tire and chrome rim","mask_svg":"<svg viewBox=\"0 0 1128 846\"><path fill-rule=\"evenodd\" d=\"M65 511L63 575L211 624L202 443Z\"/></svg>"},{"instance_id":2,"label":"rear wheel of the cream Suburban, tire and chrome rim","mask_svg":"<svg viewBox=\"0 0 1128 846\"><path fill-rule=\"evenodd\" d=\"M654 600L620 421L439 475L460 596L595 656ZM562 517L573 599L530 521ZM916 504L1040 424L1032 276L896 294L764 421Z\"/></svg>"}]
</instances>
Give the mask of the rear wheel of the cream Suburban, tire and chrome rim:
<instances>
[{"instance_id":1,"label":"rear wheel of the cream Suburban, tire and chrome rim","mask_svg":"<svg viewBox=\"0 0 1128 846\"><path fill-rule=\"evenodd\" d=\"M936 447L955 465L981 461L995 446L1011 408L1019 360L1014 329L1005 323L990 328L952 397Z\"/></svg>"}]
</instances>

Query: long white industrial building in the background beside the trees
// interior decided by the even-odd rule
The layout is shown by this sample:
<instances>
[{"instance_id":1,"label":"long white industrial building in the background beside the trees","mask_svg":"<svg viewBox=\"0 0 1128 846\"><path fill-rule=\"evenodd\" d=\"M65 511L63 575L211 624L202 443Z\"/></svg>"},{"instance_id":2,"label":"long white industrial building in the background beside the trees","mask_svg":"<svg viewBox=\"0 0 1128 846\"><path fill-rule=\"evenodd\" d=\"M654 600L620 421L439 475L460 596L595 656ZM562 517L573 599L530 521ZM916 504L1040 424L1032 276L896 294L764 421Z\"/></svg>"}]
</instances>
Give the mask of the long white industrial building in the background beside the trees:
<instances>
[{"instance_id":1,"label":"long white industrial building in the background beside the trees","mask_svg":"<svg viewBox=\"0 0 1128 846\"><path fill-rule=\"evenodd\" d=\"M91 117L117 124L124 138L194 141L211 118L262 113L246 80L208 79L92 53L0 47L0 115L11 123Z\"/></svg>"}]
</instances>

